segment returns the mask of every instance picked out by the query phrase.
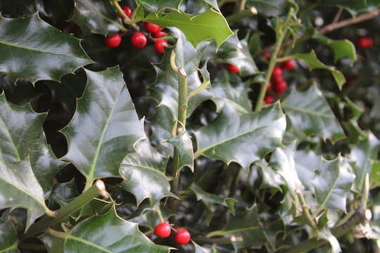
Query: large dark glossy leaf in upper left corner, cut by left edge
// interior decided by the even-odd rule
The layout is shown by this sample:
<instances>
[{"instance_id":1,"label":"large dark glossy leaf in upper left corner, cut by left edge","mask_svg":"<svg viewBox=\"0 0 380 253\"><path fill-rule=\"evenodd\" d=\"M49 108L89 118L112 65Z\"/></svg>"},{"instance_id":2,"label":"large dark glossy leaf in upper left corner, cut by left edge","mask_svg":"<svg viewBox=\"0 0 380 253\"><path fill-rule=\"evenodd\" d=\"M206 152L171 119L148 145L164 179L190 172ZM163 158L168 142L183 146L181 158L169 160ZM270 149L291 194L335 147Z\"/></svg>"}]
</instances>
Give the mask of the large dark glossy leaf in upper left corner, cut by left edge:
<instances>
[{"instance_id":1,"label":"large dark glossy leaf in upper left corner, cut by left edge","mask_svg":"<svg viewBox=\"0 0 380 253\"><path fill-rule=\"evenodd\" d=\"M59 80L64 74L92 63L80 40L44 22L36 14L26 18L0 16L0 71L17 79Z\"/></svg>"}]
</instances>

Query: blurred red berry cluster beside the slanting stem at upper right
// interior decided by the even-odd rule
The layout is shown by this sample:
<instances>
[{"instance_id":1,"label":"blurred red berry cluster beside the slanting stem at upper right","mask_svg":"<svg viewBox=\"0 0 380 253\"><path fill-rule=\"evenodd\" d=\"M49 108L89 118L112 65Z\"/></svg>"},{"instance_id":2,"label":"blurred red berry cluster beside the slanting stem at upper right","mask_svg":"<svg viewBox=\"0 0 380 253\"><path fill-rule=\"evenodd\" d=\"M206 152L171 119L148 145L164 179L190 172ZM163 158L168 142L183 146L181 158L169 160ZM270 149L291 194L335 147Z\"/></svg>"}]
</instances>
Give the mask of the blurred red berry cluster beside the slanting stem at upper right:
<instances>
[{"instance_id":1,"label":"blurred red berry cluster beside the slanting stem at upper right","mask_svg":"<svg viewBox=\"0 0 380 253\"><path fill-rule=\"evenodd\" d=\"M267 86L267 91L270 91L272 89L277 96L281 96L288 88L288 83L282 77L282 72L284 70L293 70L293 68L296 67L296 65L296 60L290 59L285 60L283 63L281 63L279 67L274 67L272 72L272 80ZM270 105L273 102L273 97L270 96L270 94L266 94L264 98L264 103Z\"/></svg>"}]
</instances>

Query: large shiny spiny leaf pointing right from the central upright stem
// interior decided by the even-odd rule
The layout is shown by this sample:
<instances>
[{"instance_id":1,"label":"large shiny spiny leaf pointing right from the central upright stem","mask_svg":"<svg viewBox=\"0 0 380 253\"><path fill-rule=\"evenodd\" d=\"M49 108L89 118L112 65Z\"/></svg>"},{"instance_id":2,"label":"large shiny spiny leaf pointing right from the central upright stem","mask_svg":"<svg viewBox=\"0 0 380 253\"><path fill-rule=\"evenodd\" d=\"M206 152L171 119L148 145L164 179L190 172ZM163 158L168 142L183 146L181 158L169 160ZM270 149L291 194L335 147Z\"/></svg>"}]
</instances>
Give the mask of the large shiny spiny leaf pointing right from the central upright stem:
<instances>
[{"instance_id":1,"label":"large shiny spiny leaf pointing right from the central upright stem","mask_svg":"<svg viewBox=\"0 0 380 253\"><path fill-rule=\"evenodd\" d=\"M282 146L285 129L286 119L279 103L247 113L225 100L220 115L194 131L198 147L195 157L203 155L227 164L237 162L248 172L253 162Z\"/></svg>"}]
</instances>

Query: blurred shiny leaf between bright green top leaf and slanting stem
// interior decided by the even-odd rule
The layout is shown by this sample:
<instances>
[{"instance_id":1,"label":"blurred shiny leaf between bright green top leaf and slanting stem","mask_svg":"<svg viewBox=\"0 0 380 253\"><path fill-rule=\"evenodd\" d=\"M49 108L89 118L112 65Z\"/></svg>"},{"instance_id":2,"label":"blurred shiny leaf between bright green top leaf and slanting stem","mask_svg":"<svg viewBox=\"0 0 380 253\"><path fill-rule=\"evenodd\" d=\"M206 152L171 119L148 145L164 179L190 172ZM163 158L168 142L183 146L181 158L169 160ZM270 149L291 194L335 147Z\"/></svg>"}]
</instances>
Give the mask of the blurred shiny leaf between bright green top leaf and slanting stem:
<instances>
[{"instance_id":1,"label":"blurred shiny leaf between bright green top leaf and slanting stem","mask_svg":"<svg viewBox=\"0 0 380 253\"><path fill-rule=\"evenodd\" d=\"M240 76L245 77L260 72L248 48L248 35L245 39L239 40L234 34L222 45L222 47L224 46L226 47L224 51L228 52L222 56L222 62L235 65L239 69Z\"/></svg>"}]
</instances>

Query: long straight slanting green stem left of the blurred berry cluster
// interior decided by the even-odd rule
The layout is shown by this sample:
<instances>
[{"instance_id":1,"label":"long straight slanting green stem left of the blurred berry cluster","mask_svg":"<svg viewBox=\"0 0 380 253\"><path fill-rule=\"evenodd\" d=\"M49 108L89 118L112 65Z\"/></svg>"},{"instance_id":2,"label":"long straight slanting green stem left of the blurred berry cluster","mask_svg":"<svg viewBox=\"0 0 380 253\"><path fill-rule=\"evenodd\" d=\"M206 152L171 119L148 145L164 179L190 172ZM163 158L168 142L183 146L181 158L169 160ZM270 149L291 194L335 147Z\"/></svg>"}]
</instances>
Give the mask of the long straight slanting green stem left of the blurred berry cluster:
<instances>
[{"instance_id":1,"label":"long straight slanting green stem left of the blurred berry cluster","mask_svg":"<svg viewBox=\"0 0 380 253\"><path fill-rule=\"evenodd\" d=\"M286 17L285 23L289 22L289 20L291 19L291 16L293 15L293 11L294 11L294 9L290 8L288 16ZM265 82L261 86L260 93L258 96L258 101L257 101L256 106L255 106L255 111L259 111L262 108L262 103L264 101L265 93L267 92L267 86L270 82L270 77L272 77L274 65L276 65L276 63L277 63L277 55L280 51L282 41L284 41L285 36L286 36L286 32L288 30L287 25L281 25L281 23L279 23L279 25L280 25L280 27L278 27L279 36L277 38L276 44L274 44L274 51L272 53L272 56L270 57L270 63L268 65L267 74L265 76Z\"/></svg>"}]
</instances>

